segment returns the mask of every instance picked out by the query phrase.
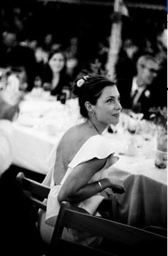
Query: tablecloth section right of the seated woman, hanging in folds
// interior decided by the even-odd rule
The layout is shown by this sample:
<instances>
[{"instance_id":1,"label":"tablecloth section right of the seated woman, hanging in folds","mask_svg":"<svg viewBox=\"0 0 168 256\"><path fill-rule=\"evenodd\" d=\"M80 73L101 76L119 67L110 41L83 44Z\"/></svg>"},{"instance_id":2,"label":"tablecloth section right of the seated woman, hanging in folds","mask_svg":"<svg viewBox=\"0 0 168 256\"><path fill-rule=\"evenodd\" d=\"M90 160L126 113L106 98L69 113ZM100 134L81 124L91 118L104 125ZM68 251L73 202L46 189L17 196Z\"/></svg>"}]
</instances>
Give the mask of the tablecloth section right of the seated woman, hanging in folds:
<instances>
[{"instance_id":1,"label":"tablecloth section right of the seated woman, hanging in folds","mask_svg":"<svg viewBox=\"0 0 168 256\"><path fill-rule=\"evenodd\" d=\"M118 140L116 135L107 137ZM114 178L123 180L125 193L115 194L115 219L135 227L167 228L167 168L154 165L154 140L144 141L135 156L120 155L120 147L118 152L120 160L110 170Z\"/></svg>"}]
</instances>

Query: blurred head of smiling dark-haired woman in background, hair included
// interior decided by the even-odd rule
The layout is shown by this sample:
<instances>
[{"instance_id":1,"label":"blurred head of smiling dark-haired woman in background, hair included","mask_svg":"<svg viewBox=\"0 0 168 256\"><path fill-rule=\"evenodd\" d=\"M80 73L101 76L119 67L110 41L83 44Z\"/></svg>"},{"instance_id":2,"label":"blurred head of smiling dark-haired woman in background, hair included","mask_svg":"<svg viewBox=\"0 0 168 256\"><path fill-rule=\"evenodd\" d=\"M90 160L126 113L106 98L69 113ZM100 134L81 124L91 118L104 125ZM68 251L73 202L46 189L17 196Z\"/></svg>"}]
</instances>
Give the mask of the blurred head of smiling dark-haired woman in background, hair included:
<instances>
[{"instance_id":1,"label":"blurred head of smiling dark-haired woman in background, hair included","mask_svg":"<svg viewBox=\"0 0 168 256\"><path fill-rule=\"evenodd\" d=\"M65 53L60 49L53 50L48 56L48 65L53 75L58 75L66 71Z\"/></svg>"}]
</instances>

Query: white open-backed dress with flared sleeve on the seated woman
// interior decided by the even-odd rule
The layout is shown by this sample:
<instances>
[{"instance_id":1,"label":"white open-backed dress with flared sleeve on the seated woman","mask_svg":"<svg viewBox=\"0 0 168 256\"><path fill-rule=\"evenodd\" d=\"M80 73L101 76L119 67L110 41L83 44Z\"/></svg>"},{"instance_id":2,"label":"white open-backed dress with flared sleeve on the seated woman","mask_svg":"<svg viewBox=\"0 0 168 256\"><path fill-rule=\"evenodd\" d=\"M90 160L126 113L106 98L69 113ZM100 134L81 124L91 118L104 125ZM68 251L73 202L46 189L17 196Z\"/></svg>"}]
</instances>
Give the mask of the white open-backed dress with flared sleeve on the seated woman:
<instances>
[{"instance_id":1,"label":"white open-backed dress with flared sleeve on the seated woman","mask_svg":"<svg viewBox=\"0 0 168 256\"><path fill-rule=\"evenodd\" d=\"M90 179L89 183L93 183L97 180L101 180L103 178L107 178L109 173L109 167L117 162L119 159L117 156L114 156L114 146L112 143L108 142L107 138L104 138L102 135L94 135L90 137L78 150L73 160L68 165L68 170L63 177L60 185L54 185L53 181L53 173L48 173L46 177L45 185L51 186L51 192L48 195L47 200L47 211L46 211L46 223L45 217L43 216L40 220L40 230L43 240L46 242L50 242L51 235L53 232L53 226L56 222L56 217L58 216L58 212L60 209L60 204L58 203L57 196L61 186L65 182L65 179L68 175L73 172L74 168L79 165L80 163L85 163L88 160L93 158L103 159L107 158L107 161L104 167L95 173L93 177ZM100 203L105 197L97 193L93 195L91 198L81 201L78 203L79 208L83 208L88 211L91 215L99 215L100 214L96 211ZM43 219L43 220L42 220ZM73 242L78 242L83 245L90 245L96 243L95 240L99 240L98 237L86 237L86 235L81 235L76 231L73 230L64 230L63 236L66 240L70 240Z\"/></svg>"}]
</instances>

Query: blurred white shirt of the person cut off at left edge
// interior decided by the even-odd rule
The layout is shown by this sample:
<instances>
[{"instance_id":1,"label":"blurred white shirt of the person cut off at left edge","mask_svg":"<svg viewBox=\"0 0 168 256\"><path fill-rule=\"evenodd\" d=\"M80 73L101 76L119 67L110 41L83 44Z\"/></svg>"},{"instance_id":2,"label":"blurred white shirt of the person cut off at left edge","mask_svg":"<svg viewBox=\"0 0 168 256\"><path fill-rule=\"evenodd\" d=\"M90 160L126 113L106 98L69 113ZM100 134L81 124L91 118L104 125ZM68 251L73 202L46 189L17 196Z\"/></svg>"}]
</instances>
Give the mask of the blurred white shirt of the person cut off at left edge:
<instances>
[{"instance_id":1,"label":"blurred white shirt of the person cut off at left edge","mask_svg":"<svg viewBox=\"0 0 168 256\"><path fill-rule=\"evenodd\" d=\"M12 123L0 120L0 175L11 165L14 155Z\"/></svg>"}]
</instances>

